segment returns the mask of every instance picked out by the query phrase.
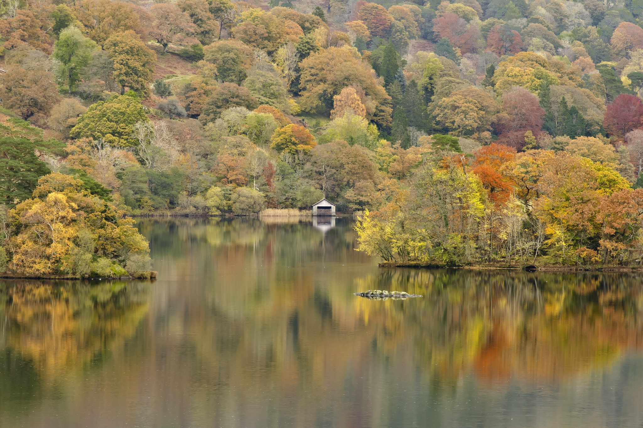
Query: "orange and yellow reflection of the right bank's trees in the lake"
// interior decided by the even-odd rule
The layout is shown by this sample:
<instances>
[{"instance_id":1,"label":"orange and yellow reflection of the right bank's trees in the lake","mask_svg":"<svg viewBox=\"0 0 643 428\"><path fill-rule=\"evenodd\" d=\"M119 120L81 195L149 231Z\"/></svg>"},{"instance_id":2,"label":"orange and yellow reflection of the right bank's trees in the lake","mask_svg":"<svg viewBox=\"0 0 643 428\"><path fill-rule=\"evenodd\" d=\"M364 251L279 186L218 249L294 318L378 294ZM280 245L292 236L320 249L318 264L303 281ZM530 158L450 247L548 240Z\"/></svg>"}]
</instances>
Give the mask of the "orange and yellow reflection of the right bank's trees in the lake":
<instances>
[{"instance_id":1,"label":"orange and yellow reflection of the right bank's trees in the lake","mask_svg":"<svg viewBox=\"0 0 643 428\"><path fill-rule=\"evenodd\" d=\"M395 270L358 283L425 295L421 311L356 304L384 352L414 342L436 377L473 367L489 380L563 379L643 339L643 289L630 275Z\"/></svg>"}]
</instances>

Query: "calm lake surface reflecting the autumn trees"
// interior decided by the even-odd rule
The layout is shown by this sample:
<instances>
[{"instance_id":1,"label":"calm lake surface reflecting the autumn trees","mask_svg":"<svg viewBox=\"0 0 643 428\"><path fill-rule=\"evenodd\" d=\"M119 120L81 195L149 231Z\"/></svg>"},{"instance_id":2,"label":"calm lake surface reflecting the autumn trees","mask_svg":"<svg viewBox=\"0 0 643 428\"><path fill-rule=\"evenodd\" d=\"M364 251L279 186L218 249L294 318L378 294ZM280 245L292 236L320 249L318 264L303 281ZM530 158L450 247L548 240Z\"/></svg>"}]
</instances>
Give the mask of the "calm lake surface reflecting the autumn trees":
<instances>
[{"instance_id":1,"label":"calm lake surface reflecting the autumn trees","mask_svg":"<svg viewBox=\"0 0 643 428\"><path fill-rule=\"evenodd\" d=\"M0 427L643 426L642 275L384 270L347 219L138 227L156 282L0 282Z\"/></svg>"}]
</instances>

